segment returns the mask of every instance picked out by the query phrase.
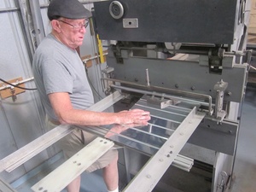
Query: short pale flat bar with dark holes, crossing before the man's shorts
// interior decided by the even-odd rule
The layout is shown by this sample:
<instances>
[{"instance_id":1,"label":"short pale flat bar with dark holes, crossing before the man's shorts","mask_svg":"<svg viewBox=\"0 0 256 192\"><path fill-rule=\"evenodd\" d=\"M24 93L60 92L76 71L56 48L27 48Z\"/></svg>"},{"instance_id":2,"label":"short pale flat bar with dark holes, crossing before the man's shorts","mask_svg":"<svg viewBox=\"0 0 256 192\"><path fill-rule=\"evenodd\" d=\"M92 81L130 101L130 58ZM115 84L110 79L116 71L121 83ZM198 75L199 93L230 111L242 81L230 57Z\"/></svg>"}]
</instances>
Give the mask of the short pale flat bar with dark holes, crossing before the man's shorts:
<instances>
[{"instance_id":1,"label":"short pale flat bar with dark holes, crossing before the man's shorts","mask_svg":"<svg viewBox=\"0 0 256 192\"><path fill-rule=\"evenodd\" d=\"M61 191L112 147L113 142L96 137L94 141L82 148L77 154L74 154L55 171L50 172L49 175L33 185L32 191Z\"/></svg>"}]
</instances>

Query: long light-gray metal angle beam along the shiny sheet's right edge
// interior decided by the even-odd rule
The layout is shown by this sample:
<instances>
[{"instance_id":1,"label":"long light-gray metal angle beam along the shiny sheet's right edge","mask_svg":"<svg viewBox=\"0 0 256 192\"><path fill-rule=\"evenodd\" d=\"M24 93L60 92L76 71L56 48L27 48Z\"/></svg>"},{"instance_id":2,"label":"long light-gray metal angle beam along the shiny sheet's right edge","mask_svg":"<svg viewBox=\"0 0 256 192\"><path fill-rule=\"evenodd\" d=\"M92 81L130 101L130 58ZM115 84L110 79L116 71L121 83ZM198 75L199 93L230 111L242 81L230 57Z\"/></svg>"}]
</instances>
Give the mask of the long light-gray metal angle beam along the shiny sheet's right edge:
<instances>
[{"instance_id":1,"label":"long light-gray metal angle beam along the shiny sheet's right edge","mask_svg":"<svg viewBox=\"0 0 256 192\"><path fill-rule=\"evenodd\" d=\"M140 192L152 191L205 115L194 108L123 192L133 192L134 189Z\"/></svg>"}]
</instances>

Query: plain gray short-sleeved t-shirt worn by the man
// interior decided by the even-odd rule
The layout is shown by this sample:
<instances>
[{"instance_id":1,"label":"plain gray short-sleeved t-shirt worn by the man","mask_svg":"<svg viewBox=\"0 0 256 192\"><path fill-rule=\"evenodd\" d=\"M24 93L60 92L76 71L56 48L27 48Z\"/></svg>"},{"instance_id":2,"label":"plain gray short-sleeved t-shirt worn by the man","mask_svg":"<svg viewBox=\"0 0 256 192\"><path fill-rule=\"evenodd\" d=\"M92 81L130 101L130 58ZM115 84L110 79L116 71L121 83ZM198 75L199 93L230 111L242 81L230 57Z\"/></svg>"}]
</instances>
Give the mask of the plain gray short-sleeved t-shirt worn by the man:
<instances>
[{"instance_id":1,"label":"plain gray short-sleeved t-shirt worn by the man","mask_svg":"<svg viewBox=\"0 0 256 192\"><path fill-rule=\"evenodd\" d=\"M49 102L50 93L69 93L73 108L86 109L94 103L84 65L77 51L61 44L51 33L39 44L32 69L49 119L57 120Z\"/></svg>"}]
</instances>

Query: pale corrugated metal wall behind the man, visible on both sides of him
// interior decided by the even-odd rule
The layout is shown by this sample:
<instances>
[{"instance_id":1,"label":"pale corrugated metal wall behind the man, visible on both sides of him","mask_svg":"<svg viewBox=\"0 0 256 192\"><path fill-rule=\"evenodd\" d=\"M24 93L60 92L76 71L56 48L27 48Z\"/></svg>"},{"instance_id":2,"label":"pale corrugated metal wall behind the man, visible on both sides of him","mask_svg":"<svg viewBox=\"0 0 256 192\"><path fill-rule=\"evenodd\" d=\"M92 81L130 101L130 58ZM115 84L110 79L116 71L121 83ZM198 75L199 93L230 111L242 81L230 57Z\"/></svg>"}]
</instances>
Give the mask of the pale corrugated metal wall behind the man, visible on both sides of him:
<instances>
[{"instance_id":1,"label":"pale corrugated metal wall behind the man, visible on both sides of him","mask_svg":"<svg viewBox=\"0 0 256 192\"><path fill-rule=\"evenodd\" d=\"M38 0L42 15L44 33L50 32L47 18L48 0ZM85 5L91 9L92 4ZM21 9L20 9L21 8ZM32 10L35 11L35 10ZM29 0L3 0L0 1L0 78L4 80L32 78L32 55L36 47L35 38L29 26L32 15L29 8ZM26 23L27 22L27 23ZM87 29L89 31L89 28ZM87 32L84 46L80 48L81 55L94 55L96 52L95 38ZM90 79L96 90L101 92L100 69L93 65L88 69ZM0 81L0 83L2 83ZM26 83L26 88L34 88L33 81ZM102 96L103 97L103 96ZM0 160L18 148L32 142L35 138L44 134L44 109L38 98L37 90L26 90L17 95L14 102L12 97L0 98ZM52 148L38 154L14 172L2 172L0 177L9 183L26 174L35 166L53 155Z\"/></svg>"}]
</instances>

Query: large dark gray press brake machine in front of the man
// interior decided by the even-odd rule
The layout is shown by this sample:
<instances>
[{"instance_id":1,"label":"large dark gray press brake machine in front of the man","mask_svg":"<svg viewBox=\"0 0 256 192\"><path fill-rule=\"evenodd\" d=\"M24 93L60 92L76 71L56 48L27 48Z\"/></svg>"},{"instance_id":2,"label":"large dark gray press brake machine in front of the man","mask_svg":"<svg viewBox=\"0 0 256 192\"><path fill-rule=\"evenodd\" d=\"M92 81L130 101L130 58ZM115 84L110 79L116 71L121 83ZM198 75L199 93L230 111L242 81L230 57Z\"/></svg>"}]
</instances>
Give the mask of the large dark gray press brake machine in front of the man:
<instances>
[{"instance_id":1,"label":"large dark gray press brake machine in front of the man","mask_svg":"<svg viewBox=\"0 0 256 192\"><path fill-rule=\"evenodd\" d=\"M248 6L249 1L238 0L94 3L95 30L108 47L105 92L125 95L114 104L117 111L142 108L152 117L148 126L109 137L138 154L153 155L142 167L135 166L136 153L126 154L127 175L137 176L125 191L154 189L170 165L163 162L187 140L214 152L211 190L228 188L251 56L245 49ZM199 121L194 128L189 127L192 119ZM186 134L191 137L181 144Z\"/></svg>"}]
</instances>

